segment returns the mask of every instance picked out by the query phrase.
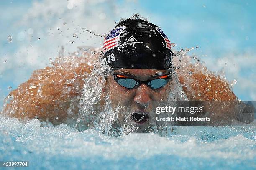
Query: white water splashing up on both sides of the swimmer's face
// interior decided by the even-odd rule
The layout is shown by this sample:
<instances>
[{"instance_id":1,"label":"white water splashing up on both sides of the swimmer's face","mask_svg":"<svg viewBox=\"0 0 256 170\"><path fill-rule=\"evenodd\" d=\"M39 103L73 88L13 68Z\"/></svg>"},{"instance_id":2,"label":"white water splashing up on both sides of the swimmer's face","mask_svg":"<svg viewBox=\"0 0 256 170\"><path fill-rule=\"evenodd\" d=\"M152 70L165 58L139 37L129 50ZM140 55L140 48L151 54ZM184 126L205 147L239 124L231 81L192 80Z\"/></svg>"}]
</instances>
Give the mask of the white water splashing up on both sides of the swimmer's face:
<instances>
[{"instance_id":1,"label":"white water splashing up on both sides of the swimmer's face","mask_svg":"<svg viewBox=\"0 0 256 170\"><path fill-rule=\"evenodd\" d=\"M120 105L113 108L108 94L104 98L101 98L102 88L106 82L104 77L110 75L104 74L106 70L110 70L110 68L101 65L100 61L97 61L94 64L92 72L84 80L83 94L80 99L81 108L75 127L79 127L78 129L80 130L94 127L105 135L115 137L127 135L131 132L138 132L138 127L129 124L129 114L120 116L120 109L122 109ZM168 101L188 100L182 90L181 84L179 84L179 79L177 74L175 74L174 68L172 68L172 73L173 85L170 89ZM102 102L102 100L105 103L103 108L100 107L100 101ZM164 135L166 134L164 131L171 131L172 129L167 124L165 124L165 127L161 126L160 128L156 125L155 121L151 122L151 124L151 127L144 129L143 132L155 132Z\"/></svg>"}]
</instances>

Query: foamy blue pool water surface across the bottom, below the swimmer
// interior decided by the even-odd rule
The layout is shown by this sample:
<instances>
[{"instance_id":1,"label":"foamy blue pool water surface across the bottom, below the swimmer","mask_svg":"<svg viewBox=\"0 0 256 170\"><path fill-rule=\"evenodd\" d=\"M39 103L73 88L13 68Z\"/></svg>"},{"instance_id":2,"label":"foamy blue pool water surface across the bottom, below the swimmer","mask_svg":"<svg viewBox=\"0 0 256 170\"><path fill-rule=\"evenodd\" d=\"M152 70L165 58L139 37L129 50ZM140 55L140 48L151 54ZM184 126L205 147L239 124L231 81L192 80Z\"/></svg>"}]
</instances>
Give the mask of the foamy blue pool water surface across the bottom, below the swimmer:
<instances>
[{"instance_id":1,"label":"foamy blue pool water surface across the bottom, below the swimmer","mask_svg":"<svg viewBox=\"0 0 256 170\"><path fill-rule=\"evenodd\" d=\"M107 137L66 124L40 127L0 117L0 160L29 169L256 169L256 126L174 127L170 137L133 133ZM23 168L19 168L23 169ZM28 168L24 168L28 169Z\"/></svg>"}]
</instances>

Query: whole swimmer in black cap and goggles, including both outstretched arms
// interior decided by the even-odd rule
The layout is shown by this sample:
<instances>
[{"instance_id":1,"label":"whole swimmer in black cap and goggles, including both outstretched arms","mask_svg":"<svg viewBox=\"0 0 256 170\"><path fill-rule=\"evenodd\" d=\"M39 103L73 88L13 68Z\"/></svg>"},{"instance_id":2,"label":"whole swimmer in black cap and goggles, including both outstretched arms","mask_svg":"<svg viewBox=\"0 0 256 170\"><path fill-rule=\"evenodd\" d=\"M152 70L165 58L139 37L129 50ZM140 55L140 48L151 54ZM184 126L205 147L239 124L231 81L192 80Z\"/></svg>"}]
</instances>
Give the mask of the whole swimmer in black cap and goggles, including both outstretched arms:
<instances>
[{"instance_id":1,"label":"whole swimmer in black cap and goggles, including both outstretched arms","mask_svg":"<svg viewBox=\"0 0 256 170\"><path fill-rule=\"evenodd\" d=\"M171 48L168 37L158 26L141 19L121 20L104 39L104 56L95 55L102 67L108 69L102 77L105 84L96 104L100 109L95 109L93 114L111 107L117 113L117 118L113 118L116 124L145 132L153 120L151 101L236 99L228 82L207 73L200 64L194 66L184 61L186 66L174 70L177 58ZM35 71L26 83L12 91L2 114L25 121L36 118L54 125L72 125L70 120L77 120L83 107L79 101L84 93L84 80L93 68L79 57L59 64ZM187 75L189 71L193 75ZM176 94L175 88L179 89ZM205 90L208 88L209 91ZM106 103L106 97L110 102Z\"/></svg>"}]
</instances>

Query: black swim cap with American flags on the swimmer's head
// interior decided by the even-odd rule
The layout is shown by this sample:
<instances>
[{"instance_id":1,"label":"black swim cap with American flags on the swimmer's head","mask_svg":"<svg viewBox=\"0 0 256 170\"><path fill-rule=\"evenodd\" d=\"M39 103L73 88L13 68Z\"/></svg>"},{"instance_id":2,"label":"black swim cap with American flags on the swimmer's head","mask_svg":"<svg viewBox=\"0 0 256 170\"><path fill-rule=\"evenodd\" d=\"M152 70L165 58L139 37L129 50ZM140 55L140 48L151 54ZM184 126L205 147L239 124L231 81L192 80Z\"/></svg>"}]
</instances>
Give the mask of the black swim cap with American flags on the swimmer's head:
<instances>
[{"instance_id":1,"label":"black swim cap with American flags on the swimmer's head","mask_svg":"<svg viewBox=\"0 0 256 170\"><path fill-rule=\"evenodd\" d=\"M161 28L142 19L120 21L105 36L102 64L123 69L169 69L173 53Z\"/></svg>"}]
</instances>

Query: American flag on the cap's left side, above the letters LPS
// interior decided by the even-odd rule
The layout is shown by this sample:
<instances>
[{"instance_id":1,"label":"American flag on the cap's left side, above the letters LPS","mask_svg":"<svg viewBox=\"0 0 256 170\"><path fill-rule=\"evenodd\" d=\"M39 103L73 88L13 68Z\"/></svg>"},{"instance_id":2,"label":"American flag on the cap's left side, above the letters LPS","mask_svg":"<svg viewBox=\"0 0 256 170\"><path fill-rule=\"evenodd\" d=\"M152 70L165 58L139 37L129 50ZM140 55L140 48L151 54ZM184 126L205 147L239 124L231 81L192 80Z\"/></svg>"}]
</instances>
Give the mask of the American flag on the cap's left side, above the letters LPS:
<instances>
[{"instance_id":1,"label":"American flag on the cap's left side, above the letters LPS","mask_svg":"<svg viewBox=\"0 0 256 170\"><path fill-rule=\"evenodd\" d=\"M123 32L124 28L125 27L117 27L111 30L110 33L108 33L108 36L104 38L104 43L103 43L104 52L107 52L110 49L118 46L119 36Z\"/></svg>"}]
</instances>

